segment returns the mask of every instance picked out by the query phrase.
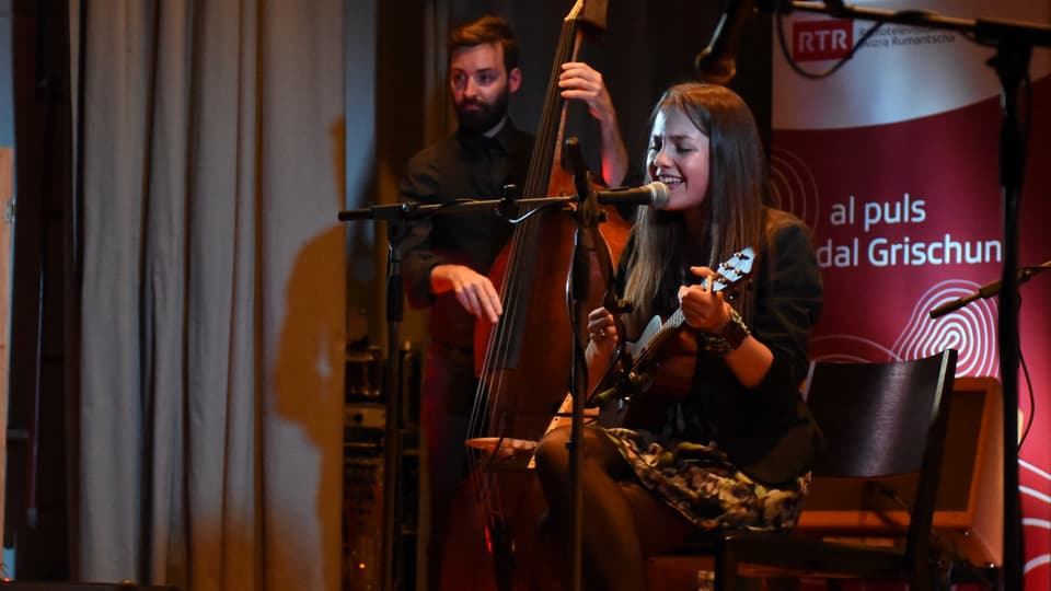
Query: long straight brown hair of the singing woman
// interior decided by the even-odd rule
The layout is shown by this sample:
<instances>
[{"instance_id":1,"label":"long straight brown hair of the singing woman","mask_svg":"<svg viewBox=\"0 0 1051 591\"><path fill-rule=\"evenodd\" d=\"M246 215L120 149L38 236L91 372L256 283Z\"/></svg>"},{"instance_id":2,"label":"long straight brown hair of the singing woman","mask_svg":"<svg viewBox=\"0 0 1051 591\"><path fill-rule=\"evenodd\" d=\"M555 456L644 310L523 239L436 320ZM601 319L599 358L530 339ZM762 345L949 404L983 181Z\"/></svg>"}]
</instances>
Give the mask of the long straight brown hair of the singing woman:
<instances>
[{"instance_id":1,"label":"long straight brown hair of the singing woman","mask_svg":"<svg viewBox=\"0 0 1051 591\"><path fill-rule=\"evenodd\" d=\"M688 236L681 211L638 210L633 232L635 250L625 298L635 302L630 325L639 327L656 313L660 286L671 280L682 266L716 266L735 252L752 246L759 252L764 225L764 204L769 196L766 160L762 141L748 105L734 91L716 84L688 82L668 89L649 117L652 129L657 115L680 109L709 141L708 193L697 206L707 220L701 236ZM647 172L648 174L648 172ZM689 244L702 245L696 260L683 260ZM747 293L735 308L748 317Z\"/></svg>"}]
</instances>

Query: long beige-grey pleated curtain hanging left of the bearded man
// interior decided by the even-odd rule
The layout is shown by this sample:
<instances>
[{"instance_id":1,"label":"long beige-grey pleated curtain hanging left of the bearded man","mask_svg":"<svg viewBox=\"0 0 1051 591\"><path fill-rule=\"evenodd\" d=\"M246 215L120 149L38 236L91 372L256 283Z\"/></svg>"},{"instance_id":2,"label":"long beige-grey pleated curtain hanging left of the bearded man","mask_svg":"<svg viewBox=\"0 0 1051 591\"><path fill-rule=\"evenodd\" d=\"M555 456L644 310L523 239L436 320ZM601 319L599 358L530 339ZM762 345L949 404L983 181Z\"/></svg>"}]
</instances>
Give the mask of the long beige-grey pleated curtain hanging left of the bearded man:
<instances>
[{"instance_id":1,"label":"long beige-grey pleated curtain hanging left of the bearded man","mask_svg":"<svg viewBox=\"0 0 1051 591\"><path fill-rule=\"evenodd\" d=\"M343 4L70 2L78 579L338 589Z\"/></svg>"}]
</instances>

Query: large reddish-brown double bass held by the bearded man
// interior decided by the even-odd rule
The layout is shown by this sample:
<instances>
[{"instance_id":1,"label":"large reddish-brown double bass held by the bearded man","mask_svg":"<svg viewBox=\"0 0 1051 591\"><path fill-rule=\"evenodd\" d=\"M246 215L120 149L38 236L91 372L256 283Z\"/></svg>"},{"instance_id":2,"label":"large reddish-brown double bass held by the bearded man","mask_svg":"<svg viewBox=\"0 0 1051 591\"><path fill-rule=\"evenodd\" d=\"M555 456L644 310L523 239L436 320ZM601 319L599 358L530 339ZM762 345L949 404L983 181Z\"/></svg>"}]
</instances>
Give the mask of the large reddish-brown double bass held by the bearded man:
<instances>
[{"instance_id":1,"label":"large reddish-brown double bass held by the bearded man","mask_svg":"<svg viewBox=\"0 0 1051 591\"><path fill-rule=\"evenodd\" d=\"M565 101L562 65L576 59L586 34L605 27L604 0L576 0L563 21L530 161L524 198L574 195L561 165ZM609 263L627 240L627 223L611 209L600 227L604 253L592 253L586 301L602 302ZM536 540L545 510L530 444L539 440L571 390L573 339L566 305L576 222L571 212L544 210L516 225L489 277L500 286L504 314L480 322L475 351L480 386L469 426L470 474L451 508L451 531L440 559L442 590L557 589ZM604 263L605 267L600 263ZM590 309L589 308L589 309ZM478 442L485 442L478 444Z\"/></svg>"}]
</instances>

